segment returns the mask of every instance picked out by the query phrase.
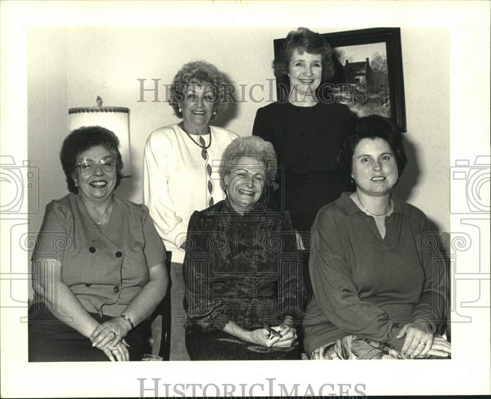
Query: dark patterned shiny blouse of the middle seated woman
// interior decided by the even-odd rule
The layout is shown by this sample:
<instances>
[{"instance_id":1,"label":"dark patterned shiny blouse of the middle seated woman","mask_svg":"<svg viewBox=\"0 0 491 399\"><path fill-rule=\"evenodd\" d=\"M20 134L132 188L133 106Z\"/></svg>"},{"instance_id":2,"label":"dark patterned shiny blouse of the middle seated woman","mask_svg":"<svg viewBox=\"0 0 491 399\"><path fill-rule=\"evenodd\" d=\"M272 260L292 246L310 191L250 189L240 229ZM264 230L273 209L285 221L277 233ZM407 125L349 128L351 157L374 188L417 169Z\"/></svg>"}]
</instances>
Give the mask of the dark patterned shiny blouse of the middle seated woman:
<instances>
[{"instance_id":1,"label":"dark patterned shiny blouse of the middle seated woman","mask_svg":"<svg viewBox=\"0 0 491 399\"><path fill-rule=\"evenodd\" d=\"M289 213L236 213L225 201L194 212L184 280L187 329L247 330L301 319L305 296L301 255Z\"/></svg>"}]
</instances>

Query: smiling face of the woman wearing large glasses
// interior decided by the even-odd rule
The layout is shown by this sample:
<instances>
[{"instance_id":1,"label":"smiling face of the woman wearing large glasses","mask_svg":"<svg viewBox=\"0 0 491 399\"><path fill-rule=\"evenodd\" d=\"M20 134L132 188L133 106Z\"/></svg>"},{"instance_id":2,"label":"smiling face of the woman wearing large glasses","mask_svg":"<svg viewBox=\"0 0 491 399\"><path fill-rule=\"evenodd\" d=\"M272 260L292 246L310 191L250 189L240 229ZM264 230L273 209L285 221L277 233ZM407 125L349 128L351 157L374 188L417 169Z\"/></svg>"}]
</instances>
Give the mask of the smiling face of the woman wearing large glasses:
<instances>
[{"instance_id":1,"label":"smiling face of the woman wearing large glasses","mask_svg":"<svg viewBox=\"0 0 491 399\"><path fill-rule=\"evenodd\" d=\"M83 199L87 201L104 201L108 199L116 186L116 171L104 172L100 165L97 165L92 173L82 175L78 167L79 161L84 158L90 158L99 162L109 155L114 154L103 146L96 146L82 152L77 157L76 167L72 177L78 185L79 195Z\"/></svg>"}]
</instances>

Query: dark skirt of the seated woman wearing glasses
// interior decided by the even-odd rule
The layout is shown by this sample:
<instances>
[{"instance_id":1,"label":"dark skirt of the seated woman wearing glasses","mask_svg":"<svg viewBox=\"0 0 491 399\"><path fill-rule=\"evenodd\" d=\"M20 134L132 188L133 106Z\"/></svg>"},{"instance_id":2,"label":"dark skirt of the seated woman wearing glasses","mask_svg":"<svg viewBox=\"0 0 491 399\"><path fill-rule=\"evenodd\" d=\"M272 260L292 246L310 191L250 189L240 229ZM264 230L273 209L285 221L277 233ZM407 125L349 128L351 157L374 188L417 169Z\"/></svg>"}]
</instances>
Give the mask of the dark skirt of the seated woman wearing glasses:
<instances>
[{"instance_id":1,"label":"dark skirt of the seated woman wearing glasses","mask_svg":"<svg viewBox=\"0 0 491 399\"><path fill-rule=\"evenodd\" d=\"M28 355L29 362L104 362L109 361L106 354L92 347L84 337L69 324L59 321L51 312L39 304L32 305L28 317ZM44 309L43 309L44 308ZM99 317L90 313L94 319L104 322L110 316ZM125 341L130 346L130 360L139 361L143 357L143 324L133 329Z\"/></svg>"}]
</instances>

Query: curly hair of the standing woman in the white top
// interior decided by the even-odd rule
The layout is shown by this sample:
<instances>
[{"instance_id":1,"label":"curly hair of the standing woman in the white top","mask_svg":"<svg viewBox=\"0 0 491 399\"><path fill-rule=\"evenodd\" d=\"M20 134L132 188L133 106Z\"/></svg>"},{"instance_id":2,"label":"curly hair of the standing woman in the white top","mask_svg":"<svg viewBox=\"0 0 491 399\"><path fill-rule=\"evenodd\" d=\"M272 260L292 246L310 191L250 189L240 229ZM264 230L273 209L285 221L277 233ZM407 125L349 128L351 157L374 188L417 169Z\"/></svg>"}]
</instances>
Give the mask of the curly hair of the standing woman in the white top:
<instances>
[{"instance_id":1,"label":"curly hair of the standing woman in the white top","mask_svg":"<svg viewBox=\"0 0 491 399\"><path fill-rule=\"evenodd\" d=\"M179 104L184 101L186 87L192 84L210 85L215 92L215 111L212 116L214 119L220 112L224 111L228 103L224 101L225 77L218 71L217 67L206 61L192 61L184 64L170 85L168 102L174 109L177 117L182 118L183 114L179 110Z\"/></svg>"}]
</instances>

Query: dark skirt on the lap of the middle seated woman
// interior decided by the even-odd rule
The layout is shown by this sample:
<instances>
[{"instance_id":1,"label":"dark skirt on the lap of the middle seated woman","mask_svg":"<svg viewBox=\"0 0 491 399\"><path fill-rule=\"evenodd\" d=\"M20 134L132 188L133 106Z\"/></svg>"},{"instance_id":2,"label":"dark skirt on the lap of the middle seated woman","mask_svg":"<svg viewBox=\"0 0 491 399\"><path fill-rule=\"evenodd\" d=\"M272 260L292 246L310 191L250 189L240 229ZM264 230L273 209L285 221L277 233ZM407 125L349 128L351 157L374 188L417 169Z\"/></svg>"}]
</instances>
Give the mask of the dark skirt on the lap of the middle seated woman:
<instances>
[{"instance_id":1,"label":"dark skirt on the lap of the middle seated woman","mask_svg":"<svg viewBox=\"0 0 491 399\"><path fill-rule=\"evenodd\" d=\"M223 331L186 331L191 360L299 360L300 346L266 347L242 341Z\"/></svg>"}]
</instances>

